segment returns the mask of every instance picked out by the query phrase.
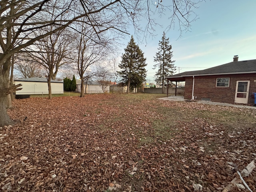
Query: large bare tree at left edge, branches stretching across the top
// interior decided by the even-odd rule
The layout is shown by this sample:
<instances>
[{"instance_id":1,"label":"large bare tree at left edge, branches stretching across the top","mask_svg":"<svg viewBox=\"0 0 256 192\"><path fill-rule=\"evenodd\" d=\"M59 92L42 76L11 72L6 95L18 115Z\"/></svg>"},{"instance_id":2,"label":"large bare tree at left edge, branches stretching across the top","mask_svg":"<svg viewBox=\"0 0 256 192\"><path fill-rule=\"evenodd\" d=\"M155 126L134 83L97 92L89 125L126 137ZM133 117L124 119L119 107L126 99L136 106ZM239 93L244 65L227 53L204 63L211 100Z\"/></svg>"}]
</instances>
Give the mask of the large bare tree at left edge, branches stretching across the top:
<instances>
[{"instance_id":1,"label":"large bare tree at left edge, branches stretching across the top","mask_svg":"<svg viewBox=\"0 0 256 192\"><path fill-rule=\"evenodd\" d=\"M182 18L188 18L190 13L193 13L191 8L195 7L194 1L173 0L172 2L179 3L169 6L175 8L174 16L180 15ZM54 18L50 19L47 14L53 8ZM74 28L74 24L84 21L88 28L94 31L97 40L100 40L101 34L106 31L112 38L119 38L121 34L128 33L130 22L134 24L135 30L145 31L140 28L138 22L145 17L146 12L147 28L149 28L154 22L150 18L152 8L160 8L160 5L156 7L151 4L150 0L0 1L0 126L12 124L5 107L7 95L18 88L18 86L10 88L9 83L12 55L25 51L24 48L26 51L33 52L35 50L32 45L35 42L64 28ZM81 20L81 18L86 19ZM190 20L186 19L186 22L190 23ZM49 26L52 27L50 31ZM42 33L35 36L35 32L38 31ZM49 74L50 77L51 75Z\"/></svg>"}]
</instances>

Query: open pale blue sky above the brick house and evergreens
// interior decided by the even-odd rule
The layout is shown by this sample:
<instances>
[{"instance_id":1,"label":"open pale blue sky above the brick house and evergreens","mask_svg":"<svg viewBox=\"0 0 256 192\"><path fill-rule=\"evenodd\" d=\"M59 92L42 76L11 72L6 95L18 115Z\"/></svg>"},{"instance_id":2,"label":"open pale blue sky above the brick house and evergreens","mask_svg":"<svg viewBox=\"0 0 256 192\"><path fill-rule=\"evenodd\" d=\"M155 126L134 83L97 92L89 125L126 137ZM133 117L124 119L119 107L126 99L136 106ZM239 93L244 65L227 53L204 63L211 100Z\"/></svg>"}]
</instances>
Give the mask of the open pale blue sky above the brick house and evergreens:
<instances>
[{"instance_id":1,"label":"open pale blue sky above the brick house and evergreens","mask_svg":"<svg viewBox=\"0 0 256 192\"><path fill-rule=\"evenodd\" d=\"M156 28L153 39L138 43L140 40L134 37L146 57L147 82L154 83L154 56L164 31L172 45L175 74L226 64L232 62L235 55L238 61L256 59L256 0L206 0L197 6L194 12L198 19L182 36L177 25L165 30L169 22L162 16L162 27ZM130 36L122 41L120 55L129 41Z\"/></svg>"}]
</instances>

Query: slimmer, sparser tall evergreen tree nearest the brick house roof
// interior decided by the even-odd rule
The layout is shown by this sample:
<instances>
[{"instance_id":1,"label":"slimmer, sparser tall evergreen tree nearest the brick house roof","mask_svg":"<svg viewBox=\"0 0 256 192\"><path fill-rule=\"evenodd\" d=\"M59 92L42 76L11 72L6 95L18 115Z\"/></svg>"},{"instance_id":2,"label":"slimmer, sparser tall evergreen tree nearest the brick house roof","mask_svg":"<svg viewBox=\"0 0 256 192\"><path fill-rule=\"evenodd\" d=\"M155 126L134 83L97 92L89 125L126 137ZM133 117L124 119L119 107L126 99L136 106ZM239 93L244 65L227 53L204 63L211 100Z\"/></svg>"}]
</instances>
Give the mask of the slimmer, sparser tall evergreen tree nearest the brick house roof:
<instances>
[{"instance_id":1,"label":"slimmer, sparser tall evergreen tree nearest the brick house roof","mask_svg":"<svg viewBox=\"0 0 256 192\"><path fill-rule=\"evenodd\" d=\"M158 68L158 71L154 76L156 82L162 86L162 93L164 93L164 87L167 86L165 77L172 75L176 70L176 67L174 66L175 61L172 61L172 45L169 45L169 43L169 38L166 38L164 32L162 41L159 41L158 43L158 52L154 57L154 62L156 62L156 64L154 64L153 69Z\"/></svg>"}]
</instances>

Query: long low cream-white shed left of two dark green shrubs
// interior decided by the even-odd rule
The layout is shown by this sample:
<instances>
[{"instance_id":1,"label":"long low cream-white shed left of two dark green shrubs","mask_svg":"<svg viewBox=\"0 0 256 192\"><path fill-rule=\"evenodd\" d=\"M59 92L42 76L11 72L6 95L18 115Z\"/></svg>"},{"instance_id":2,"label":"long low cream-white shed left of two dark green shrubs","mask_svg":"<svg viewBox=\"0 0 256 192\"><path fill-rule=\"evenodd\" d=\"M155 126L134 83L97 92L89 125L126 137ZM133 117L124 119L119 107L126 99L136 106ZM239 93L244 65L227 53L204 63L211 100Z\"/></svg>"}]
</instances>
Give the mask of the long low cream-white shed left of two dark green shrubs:
<instances>
[{"instance_id":1,"label":"long low cream-white shed left of two dark green shrubs","mask_svg":"<svg viewBox=\"0 0 256 192\"><path fill-rule=\"evenodd\" d=\"M47 78L32 77L15 79L15 85L22 84L16 95L49 94ZM52 94L63 94L63 81L51 80Z\"/></svg>"}]
</instances>

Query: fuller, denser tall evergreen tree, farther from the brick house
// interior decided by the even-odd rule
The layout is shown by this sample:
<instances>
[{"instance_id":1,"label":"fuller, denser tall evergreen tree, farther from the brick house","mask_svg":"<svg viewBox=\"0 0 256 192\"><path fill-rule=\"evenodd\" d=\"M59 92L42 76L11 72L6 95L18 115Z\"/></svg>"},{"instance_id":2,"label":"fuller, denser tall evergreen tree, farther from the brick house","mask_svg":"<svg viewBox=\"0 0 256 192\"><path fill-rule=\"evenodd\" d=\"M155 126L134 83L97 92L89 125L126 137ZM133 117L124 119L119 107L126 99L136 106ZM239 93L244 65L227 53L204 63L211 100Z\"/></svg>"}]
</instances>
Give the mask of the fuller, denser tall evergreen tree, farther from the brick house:
<instances>
[{"instance_id":1,"label":"fuller, denser tall evergreen tree, farther from the brick house","mask_svg":"<svg viewBox=\"0 0 256 192\"><path fill-rule=\"evenodd\" d=\"M122 77L122 82L127 85L127 93L130 88L138 88L146 79L146 58L139 46L134 42L133 36L122 54L121 69L118 74Z\"/></svg>"}]
</instances>

